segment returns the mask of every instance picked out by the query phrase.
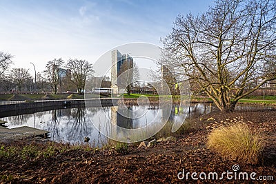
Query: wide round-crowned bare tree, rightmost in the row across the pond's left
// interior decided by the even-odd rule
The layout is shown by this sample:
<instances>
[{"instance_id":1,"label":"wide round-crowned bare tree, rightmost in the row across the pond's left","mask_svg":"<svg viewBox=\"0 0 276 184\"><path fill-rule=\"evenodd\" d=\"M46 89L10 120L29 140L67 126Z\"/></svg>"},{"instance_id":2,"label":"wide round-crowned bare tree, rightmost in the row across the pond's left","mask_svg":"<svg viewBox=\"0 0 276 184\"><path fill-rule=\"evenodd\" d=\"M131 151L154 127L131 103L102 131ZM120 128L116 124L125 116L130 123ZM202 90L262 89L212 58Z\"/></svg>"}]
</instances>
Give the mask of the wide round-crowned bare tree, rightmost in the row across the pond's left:
<instances>
[{"instance_id":1,"label":"wide round-crowned bare tree, rightmost in the row across the pond's left","mask_svg":"<svg viewBox=\"0 0 276 184\"><path fill-rule=\"evenodd\" d=\"M66 68L70 70L73 83L77 86L77 92L83 94L86 79L94 72L92 64L86 60L69 59Z\"/></svg>"}]
</instances>

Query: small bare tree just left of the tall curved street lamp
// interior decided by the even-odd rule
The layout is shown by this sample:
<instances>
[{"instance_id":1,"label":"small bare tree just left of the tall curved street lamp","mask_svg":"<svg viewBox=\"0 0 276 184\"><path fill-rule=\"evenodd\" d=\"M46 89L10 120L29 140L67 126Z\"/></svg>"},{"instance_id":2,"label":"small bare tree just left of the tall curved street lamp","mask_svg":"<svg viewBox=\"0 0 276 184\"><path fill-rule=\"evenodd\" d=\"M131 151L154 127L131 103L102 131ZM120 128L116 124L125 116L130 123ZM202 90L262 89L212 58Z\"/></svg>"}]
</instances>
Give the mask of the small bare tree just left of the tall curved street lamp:
<instances>
[{"instance_id":1,"label":"small bare tree just left of the tall curved street lamp","mask_svg":"<svg viewBox=\"0 0 276 184\"><path fill-rule=\"evenodd\" d=\"M12 68L10 71L10 79L12 79L14 84L17 85L19 92L21 92L23 84L26 83L28 76L30 76L30 74L25 68Z\"/></svg>"}]
</instances>

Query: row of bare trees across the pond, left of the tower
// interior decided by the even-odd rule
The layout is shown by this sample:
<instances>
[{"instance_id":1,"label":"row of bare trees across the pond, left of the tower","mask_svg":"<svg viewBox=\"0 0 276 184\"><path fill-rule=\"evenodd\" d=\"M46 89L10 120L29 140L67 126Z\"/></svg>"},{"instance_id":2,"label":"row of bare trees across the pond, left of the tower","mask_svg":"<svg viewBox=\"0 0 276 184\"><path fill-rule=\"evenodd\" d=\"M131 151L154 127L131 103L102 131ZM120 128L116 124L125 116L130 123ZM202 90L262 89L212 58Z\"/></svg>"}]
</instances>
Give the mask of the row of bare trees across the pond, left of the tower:
<instances>
[{"instance_id":1,"label":"row of bare trees across the pond, left of the tower","mask_svg":"<svg viewBox=\"0 0 276 184\"><path fill-rule=\"evenodd\" d=\"M92 64L82 59L52 59L46 63L45 70L38 72L36 81L29 69L10 68L12 55L0 52L0 92L52 92L66 91L83 94L86 80L94 72Z\"/></svg>"}]
</instances>

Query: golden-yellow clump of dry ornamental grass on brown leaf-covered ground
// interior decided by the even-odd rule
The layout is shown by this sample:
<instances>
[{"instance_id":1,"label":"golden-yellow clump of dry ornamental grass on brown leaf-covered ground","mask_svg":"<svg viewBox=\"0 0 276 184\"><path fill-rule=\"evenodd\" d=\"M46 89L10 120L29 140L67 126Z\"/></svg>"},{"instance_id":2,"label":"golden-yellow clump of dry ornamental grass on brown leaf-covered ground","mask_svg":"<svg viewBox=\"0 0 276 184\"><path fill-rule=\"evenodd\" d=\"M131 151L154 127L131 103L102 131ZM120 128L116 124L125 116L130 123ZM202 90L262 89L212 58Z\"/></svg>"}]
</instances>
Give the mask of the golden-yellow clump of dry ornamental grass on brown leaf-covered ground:
<instances>
[{"instance_id":1,"label":"golden-yellow clump of dry ornamental grass on brown leaf-covered ground","mask_svg":"<svg viewBox=\"0 0 276 184\"><path fill-rule=\"evenodd\" d=\"M208 135L207 146L229 159L242 163L258 163L265 140L260 132L253 132L244 122L225 125Z\"/></svg>"}]
</instances>

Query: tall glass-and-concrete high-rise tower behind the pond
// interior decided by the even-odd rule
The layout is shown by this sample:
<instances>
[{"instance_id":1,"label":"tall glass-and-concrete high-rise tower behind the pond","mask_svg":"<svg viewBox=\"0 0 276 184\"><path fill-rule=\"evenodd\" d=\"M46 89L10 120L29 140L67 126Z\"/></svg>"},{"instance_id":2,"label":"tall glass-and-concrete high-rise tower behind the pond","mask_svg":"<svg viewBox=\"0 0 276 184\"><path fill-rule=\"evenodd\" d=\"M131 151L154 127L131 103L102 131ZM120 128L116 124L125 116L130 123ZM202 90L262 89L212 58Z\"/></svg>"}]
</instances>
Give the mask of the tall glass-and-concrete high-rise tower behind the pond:
<instances>
[{"instance_id":1,"label":"tall glass-and-concrete high-rise tower behind the pond","mask_svg":"<svg viewBox=\"0 0 276 184\"><path fill-rule=\"evenodd\" d=\"M126 81L122 81L118 76L126 70L133 67L133 58L129 54L121 54L119 50L112 50L111 52L112 68L111 68L111 88L113 93L118 93L120 85ZM127 65L128 67L124 67ZM130 67L129 67L130 66ZM132 74L129 74L128 81L132 81Z\"/></svg>"}]
</instances>

